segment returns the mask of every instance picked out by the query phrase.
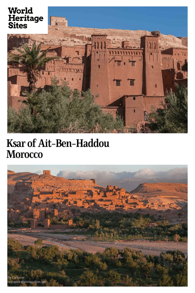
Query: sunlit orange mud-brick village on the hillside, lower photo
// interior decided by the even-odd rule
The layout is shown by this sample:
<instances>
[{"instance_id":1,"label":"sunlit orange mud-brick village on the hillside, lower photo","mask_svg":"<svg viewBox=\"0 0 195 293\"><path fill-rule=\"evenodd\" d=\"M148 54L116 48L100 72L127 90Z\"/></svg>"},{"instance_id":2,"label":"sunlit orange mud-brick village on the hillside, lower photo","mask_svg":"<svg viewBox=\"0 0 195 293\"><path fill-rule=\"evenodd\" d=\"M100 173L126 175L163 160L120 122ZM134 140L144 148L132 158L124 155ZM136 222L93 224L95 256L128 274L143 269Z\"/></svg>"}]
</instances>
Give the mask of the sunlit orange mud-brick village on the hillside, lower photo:
<instances>
[{"instance_id":1,"label":"sunlit orange mud-brick village on the hillside, lower photo","mask_svg":"<svg viewBox=\"0 0 195 293\"><path fill-rule=\"evenodd\" d=\"M9 173L12 174L12 173ZM18 173L19 174L19 173ZM15 200L14 205L11 205ZM19 180L15 184L13 196L8 201L8 219L31 220L31 228L44 222L45 229L63 229L69 226L50 225L49 217L60 219L64 215L73 217L81 212L139 212L142 214L175 214L181 209L180 205L163 200L151 200L151 197L140 197L126 192L124 188L107 185L103 188L91 180L67 180L52 176L49 170L43 175L32 174L27 180ZM48 217L49 216L49 217ZM57 227L59 226L59 227Z\"/></svg>"}]
</instances>

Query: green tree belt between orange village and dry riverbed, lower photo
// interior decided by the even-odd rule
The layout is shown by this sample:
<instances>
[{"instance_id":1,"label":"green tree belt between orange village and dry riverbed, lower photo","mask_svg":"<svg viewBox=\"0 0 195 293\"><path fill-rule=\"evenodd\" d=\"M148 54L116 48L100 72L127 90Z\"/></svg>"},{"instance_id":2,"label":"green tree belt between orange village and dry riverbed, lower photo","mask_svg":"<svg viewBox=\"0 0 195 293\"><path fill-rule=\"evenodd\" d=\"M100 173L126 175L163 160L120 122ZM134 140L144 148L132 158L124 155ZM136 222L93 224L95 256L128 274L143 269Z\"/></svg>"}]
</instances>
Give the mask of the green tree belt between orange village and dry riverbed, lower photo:
<instances>
[{"instance_id":1,"label":"green tree belt between orange village and dry riverbed, lower photo","mask_svg":"<svg viewBox=\"0 0 195 293\"><path fill-rule=\"evenodd\" d=\"M95 219L95 220L94 220ZM73 217L73 226L80 228L78 234L89 235L98 241L149 238L161 241L187 241L187 224L168 224L157 221L157 226L147 226L155 222L149 214L119 212L82 212L80 217ZM65 232L61 232L65 233Z\"/></svg>"}]
</instances>

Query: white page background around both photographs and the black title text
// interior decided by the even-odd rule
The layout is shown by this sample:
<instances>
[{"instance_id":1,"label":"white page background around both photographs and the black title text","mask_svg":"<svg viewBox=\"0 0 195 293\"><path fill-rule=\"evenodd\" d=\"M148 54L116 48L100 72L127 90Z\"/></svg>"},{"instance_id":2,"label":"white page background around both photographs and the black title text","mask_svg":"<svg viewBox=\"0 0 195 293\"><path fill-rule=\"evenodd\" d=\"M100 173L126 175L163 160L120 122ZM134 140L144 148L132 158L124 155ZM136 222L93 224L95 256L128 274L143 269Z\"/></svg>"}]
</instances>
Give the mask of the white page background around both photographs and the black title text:
<instances>
[{"instance_id":1,"label":"white page background around both photographs and the black title text","mask_svg":"<svg viewBox=\"0 0 195 293\"><path fill-rule=\"evenodd\" d=\"M193 289L193 267L192 263L194 262L194 253L192 251L192 240L193 240L193 233L191 230L193 222L193 210L192 206L194 204L194 189L193 189L193 182L194 182L194 94L192 94L192 74L191 74L191 67L194 64L193 60L191 60L191 48L193 46L192 40L189 34L189 130L188 134L7 134L7 74L6 74L6 59L7 59L7 33L45 33L41 31L41 27L39 27L39 23L32 23L34 24L33 32L28 31L25 29L25 32L22 32L21 29L14 29L11 31L8 29L8 7L32 7L33 11L36 13L33 16L44 16L44 21L41 22L42 29L44 25L47 26L47 9L48 6L65 6L65 1L58 1L54 3L54 1L47 1L44 4L40 1L8 1L8 3L3 4L3 9L1 9L1 197L4 204L2 208L4 210L2 219L1 227L5 225L4 229L4 248L1 250L2 252L6 251L6 198L7 198L7 164L15 164L15 165L30 165L30 164L129 164L129 165L138 165L138 164L188 164L188 175L189 175L189 286L188 288L174 288L174 287L167 287L166 290L177 290L178 291L191 291ZM116 1L98 1L95 3L97 6L117 6L118 2ZM131 3L128 1L124 1L122 3L123 6L128 6ZM136 3L137 4L137 3ZM191 33L194 36L194 32L192 31L194 27L193 21L193 12L194 7L190 4L189 1L177 1L177 5L172 3L172 6L189 6L188 9L188 19L189 19L189 29L191 29ZM1 4L2 5L2 4ZM91 1L85 1L82 3L83 6L93 6ZM146 2L139 1L140 6L146 6ZM156 1L149 1L147 2L148 6L157 6ZM161 6L162 4L160 3ZM163 2L164 6L169 6L169 1ZM81 6L81 2L74 1L74 6ZM138 5L137 5L138 6ZM65 15L68 19L68 15ZM30 22L27 22L28 26ZM191 24L191 25L190 25ZM30 27L29 27L30 28ZM143 28L144 29L144 28ZM194 82L194 81L193 81ZM15 141L30 141L33 138L37 139L37 142L40 139L51 139L52 142L55 139L62 139L63 141L75 141L76 139L84 139L90 140L91 138L102 141L109 141L110 147L109 148L56 148L52 146L51 148L13 148L16 151L41 151L43 153L42 159L6 159L7 155L7 142L6 139L13 139ZM32 150L31 150L32 149ZM2 243L2 241L1 241ZM6 284L6 253L4 253L4 260L1 262L4 269L4 275L1 275L1 284L4 286L5 290L23 290L20 287L9 287L7 288ZM36 290L41 290L42 287L37 287ZM53 291L54 288L49 288L49 291ZM28 287L29 290L34 290L33 287ZM55 288L55 290L66 290L66 288ZM67 288L68 289L68 288ZM78 290L113 290L118 291L118 287L114 288L76 288L71 287L69 290L78 291ZM132 288L123 287L122 290L125 292L129 291ZM156 288L136 288L136 290L156 290ZM164 290L163 288L158 288L158 290Z\"/></svg>"}]
</instances>

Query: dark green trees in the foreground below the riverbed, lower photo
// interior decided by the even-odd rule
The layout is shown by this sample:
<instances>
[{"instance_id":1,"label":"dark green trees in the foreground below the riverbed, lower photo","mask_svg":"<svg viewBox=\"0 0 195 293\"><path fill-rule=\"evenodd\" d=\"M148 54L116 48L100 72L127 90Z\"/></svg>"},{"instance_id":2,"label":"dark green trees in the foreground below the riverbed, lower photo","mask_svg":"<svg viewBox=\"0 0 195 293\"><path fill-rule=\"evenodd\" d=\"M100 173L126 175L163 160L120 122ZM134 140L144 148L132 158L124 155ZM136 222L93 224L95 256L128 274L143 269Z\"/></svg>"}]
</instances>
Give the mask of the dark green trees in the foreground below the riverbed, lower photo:
<instances>
[{"instance_id":1,"label":"dark green trees in the foreground below the riverbed, lower photo","mask_svg":"<svg viewBox=\"0 0 195 293\"><path fill-rule=\"evenodd\" d=\"M187 286L187 259L178 250L154 256L111 247L92 254L60 251L55 245L22 250L18 241L8 239L8 243L13 249L8 257L8 286Z\"/></svg>"}]
</instances>

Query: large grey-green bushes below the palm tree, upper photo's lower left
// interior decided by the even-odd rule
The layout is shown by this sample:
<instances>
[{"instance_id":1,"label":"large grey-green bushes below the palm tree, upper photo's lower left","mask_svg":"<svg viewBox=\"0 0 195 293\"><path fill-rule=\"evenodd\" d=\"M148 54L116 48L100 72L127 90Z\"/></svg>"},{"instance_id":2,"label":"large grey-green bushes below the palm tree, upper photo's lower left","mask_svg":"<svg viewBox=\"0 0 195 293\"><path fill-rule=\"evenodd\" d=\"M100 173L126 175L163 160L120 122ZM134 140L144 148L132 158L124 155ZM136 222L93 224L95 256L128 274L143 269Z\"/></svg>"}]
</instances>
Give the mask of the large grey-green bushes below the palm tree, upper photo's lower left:
<instances>
[{"instance_id":1,"label":"large grey-green bushes below the palm tree, upper photo's lower left","mask_svg":"<svg viewBox=\"0 0 195 293\"><path fill-rule=\"evenodd\" d=\"M102 112L90 91L72 91L66 83L59 86L56 78L47 91L27 94L25 103L19 114L8 107L8 133L107 133L124 128L120 117Z\"/></svg>"}]
</instances>

